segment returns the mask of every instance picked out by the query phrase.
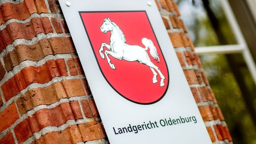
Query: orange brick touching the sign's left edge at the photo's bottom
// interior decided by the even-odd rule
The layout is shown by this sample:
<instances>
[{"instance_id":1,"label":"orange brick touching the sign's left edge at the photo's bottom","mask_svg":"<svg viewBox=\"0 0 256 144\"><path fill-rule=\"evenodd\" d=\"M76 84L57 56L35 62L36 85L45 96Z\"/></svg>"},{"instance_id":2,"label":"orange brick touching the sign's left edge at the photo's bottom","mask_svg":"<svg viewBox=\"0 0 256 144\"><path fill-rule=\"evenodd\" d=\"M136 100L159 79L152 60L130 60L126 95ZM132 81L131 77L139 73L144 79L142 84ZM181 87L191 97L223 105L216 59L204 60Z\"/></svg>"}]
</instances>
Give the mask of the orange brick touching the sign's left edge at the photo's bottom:
<instances>
[{"instance_id":1,"label":"orange brick touching the sign's left edge at the photo's bottom","mask_svg":"<svg viewBox=\"0 0 256 144\"><path fill-rule=\"evenodd\" d=\"M103 129L103 125L101 123L97 123L97 122L82 123L82 124L78 124L78 128L81 132L83 141L97 140L97 139L100 139L101 136L103 138L106 137L105 131ZM100 132L98 128L100 129Z\"/></svg>"}]
</instances>

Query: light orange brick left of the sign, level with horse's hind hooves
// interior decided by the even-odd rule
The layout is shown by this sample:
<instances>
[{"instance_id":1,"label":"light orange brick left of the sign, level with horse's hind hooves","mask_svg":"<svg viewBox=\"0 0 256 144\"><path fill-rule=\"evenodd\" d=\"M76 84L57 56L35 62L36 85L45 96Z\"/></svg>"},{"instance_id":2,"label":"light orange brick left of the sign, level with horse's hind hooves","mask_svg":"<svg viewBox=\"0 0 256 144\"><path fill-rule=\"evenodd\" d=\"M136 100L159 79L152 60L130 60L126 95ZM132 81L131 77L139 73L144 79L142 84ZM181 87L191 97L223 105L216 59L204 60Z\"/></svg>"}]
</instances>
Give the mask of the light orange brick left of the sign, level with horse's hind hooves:
<instances>
[{"instance_id":1,"label":"light orange brick left of the sign, level with horse's hind hooves","mask_svg":"<svg viewBox=\"0 0 256 144\"><path fill-rule=\"evenodd\" d=\"M82 81L85 86L87 95L90 95L91 91L87 85L87 81L84 79ZM84 89L83 89L80 79L65 80L65 81L62 81L62 84L64 86L64 90L65 90L68 98L74 97L74 96L85 95L85 92L84 92Z\"/></svg>"}]
</instances>

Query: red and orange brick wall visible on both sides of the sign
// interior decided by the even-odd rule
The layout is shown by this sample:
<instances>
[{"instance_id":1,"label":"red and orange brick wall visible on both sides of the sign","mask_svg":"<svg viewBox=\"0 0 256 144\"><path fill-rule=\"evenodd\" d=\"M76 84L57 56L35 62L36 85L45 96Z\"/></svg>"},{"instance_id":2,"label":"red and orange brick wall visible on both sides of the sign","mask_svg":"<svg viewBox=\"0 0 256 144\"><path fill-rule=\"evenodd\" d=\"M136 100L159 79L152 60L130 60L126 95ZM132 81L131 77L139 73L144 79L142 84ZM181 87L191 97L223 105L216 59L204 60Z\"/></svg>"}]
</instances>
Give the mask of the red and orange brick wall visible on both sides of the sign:
<instances>
[{"instance_id":1,"label":"red and orange brick wall visible on both sides of the sign","mask_svg":"<svg viewBox=\"0 0 256 144\"><path fill-rule=\"evenodd\" d=\"M59 5L0 4L0 143L108 143ZM232 143L177 5L156 4L212 142Z\"/></svg>"}]
</instances>

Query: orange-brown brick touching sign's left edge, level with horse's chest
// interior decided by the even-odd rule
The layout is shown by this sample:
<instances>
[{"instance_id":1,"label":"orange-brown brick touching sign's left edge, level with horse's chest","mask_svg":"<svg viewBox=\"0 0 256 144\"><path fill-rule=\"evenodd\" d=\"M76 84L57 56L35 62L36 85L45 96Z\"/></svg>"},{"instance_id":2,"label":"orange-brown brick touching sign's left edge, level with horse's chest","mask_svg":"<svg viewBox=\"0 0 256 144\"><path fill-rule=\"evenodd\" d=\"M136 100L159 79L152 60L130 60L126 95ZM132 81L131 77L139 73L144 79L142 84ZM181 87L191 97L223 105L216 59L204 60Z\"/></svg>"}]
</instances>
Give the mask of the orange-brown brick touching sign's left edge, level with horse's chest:
<instances>
[{"instance_id":1,"label":"orange-brown brick touching sign's left edge, level with horse's chest","mask_svg":"<svg viewBox=\"0 0 256 144\"><path fill-rule=\"evenodd\" d=\"M52 53L71 53L75 52L75 48L71 37L55 37L48 39L52 48Z\"/></svg>"}]
</instances>

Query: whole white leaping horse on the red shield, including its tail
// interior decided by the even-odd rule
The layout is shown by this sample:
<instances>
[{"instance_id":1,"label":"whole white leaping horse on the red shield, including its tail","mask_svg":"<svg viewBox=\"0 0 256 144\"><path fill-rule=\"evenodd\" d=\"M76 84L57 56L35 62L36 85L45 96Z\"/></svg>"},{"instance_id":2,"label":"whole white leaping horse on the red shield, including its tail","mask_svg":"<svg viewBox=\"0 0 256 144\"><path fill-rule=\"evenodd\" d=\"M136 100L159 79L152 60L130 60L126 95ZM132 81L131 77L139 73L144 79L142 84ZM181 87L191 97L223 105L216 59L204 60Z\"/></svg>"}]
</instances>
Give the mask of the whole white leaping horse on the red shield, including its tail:
<instances>
[{"instance_id":1,"label":"whole white leaping horse on the red shield, including its tail","mask_svg":"<svg viewBox=\"0 0 256 144\"><path fill-rule=\"evenodd\" d=\"M111 22L111 20L109 18L105 18L103 24L100 26L100 30L101 32L107 33L108 31L111 32L111 36L110 36L110 43L106 44L106 43L101 43L100 46L100 57L105 59L104 54L102 53L104 46L108 48L108 50L105 50L105 55L107 57L108 60L108 64L111 68L116 69L114 64L111 63L108 54L110 54L111 56L113 56L116 59L119 60L127 60L127 61L139 61L142 64L146 64L153 72L153 83L157 83L157 73L156 71L159 73L160 77L161 77L161 81L160 81L160 86L164 86L164 75L162 74L162 72L160 71L160 69L154 65L153 62L151 62L147 50L148 48L150 49L149 53L151 54L151 56L155 59L159 60L158 54L156 52L156 47L154 46L153 42L150 39L147 38L142 38L142 44L145 45L145 48L142 48L138 45L129 45L126 44L126 39L125 36L122 32L122 30L116 25L116 23ZM156 71L154 70L156 69Z\"/></svg>"}]
</instances>

